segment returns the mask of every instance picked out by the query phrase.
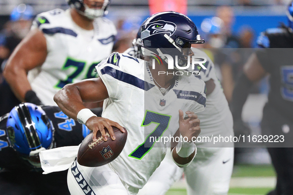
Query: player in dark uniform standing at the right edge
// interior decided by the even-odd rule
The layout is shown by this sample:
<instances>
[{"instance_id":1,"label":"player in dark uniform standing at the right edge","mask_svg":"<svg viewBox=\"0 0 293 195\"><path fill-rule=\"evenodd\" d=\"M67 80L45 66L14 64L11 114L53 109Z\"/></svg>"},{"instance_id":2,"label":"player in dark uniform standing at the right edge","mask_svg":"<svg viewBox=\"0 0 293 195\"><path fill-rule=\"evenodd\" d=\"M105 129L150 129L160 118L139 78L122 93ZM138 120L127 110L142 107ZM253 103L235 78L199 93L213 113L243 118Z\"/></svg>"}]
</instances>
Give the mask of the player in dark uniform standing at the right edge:
<instances>
[{"instance_id":1,"label":"player in dark uniform standing at the right edge","mask_svg":"<svg viewBox=\"0 0 293 195\"><path fill-rule=\"evenodd\" d=\"M257 44L264 49L250 56L233 92L234 121L241 121L234 123L234 129L241 130L242 107L252 84L270 75L270 92L263 108L261 129L264 137L274 138L266 146L277 173L277 185L268 195L291 195L293 192L293 57L292 49L288 49L293 48L293 3L289 5L287 15L288 27L283 25L261 33ZM272 140L278 143L272 143Z\"/></svg>"}]
</instances>

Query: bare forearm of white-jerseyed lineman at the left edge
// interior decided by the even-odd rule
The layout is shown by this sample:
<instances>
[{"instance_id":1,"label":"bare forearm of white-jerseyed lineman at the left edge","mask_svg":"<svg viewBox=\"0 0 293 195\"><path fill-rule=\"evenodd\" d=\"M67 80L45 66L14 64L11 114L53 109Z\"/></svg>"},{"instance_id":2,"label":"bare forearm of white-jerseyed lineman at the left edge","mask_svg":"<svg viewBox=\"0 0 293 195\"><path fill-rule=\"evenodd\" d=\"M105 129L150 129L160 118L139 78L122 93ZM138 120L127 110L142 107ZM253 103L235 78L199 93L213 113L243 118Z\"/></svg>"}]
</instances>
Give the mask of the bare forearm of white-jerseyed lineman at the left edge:
<instances>
[{"instance_id":1,"label":"bare forearm of white-jerseyed lineman at the left edge","mask_svg":"<svg viewBox=\"0 0 293 195\"><path fill-rule=\"evenodd\" d=\"M11 62L8 62L4 68L3 76L16 98L20 101L25 101L25 94L32 90L31 85L27 80L26 71L17 68L16 66L13 66Z\"/></svg>"}]
</instances>

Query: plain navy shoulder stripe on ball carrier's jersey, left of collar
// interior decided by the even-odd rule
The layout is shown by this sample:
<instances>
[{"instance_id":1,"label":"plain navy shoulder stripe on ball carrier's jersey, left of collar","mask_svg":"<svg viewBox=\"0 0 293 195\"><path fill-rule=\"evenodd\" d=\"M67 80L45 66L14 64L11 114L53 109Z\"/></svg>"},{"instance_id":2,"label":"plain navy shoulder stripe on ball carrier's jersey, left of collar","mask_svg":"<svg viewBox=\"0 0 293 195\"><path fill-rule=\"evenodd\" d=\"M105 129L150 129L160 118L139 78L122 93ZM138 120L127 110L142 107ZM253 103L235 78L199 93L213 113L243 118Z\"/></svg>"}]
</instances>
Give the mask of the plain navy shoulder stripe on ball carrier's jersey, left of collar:
<instances>
[{"instance_id":1,"label":"plain navy shoulder stripe on ball carrier's jersey, left of collar","mask_svg":"<svg viewBox=\"0 0 293 195\"><path fill-rule=\"evenodd\" d=\"M119 81L122 81L124 83L128 83L132 86L135 86L135 87L142 89L142 90L145 90L145 91L148 91L151 88L155 87L155 85L153 85L153 84L145 82L144 80L141 80L131 74L127 74L127 73L122 72L120 70L116 70L115 68L112 68L110 66L105 66L104 68L102 68L101 73L102 73L102 75L108 74L111 77L113 77Z\"/></svg>"}]
</instances>

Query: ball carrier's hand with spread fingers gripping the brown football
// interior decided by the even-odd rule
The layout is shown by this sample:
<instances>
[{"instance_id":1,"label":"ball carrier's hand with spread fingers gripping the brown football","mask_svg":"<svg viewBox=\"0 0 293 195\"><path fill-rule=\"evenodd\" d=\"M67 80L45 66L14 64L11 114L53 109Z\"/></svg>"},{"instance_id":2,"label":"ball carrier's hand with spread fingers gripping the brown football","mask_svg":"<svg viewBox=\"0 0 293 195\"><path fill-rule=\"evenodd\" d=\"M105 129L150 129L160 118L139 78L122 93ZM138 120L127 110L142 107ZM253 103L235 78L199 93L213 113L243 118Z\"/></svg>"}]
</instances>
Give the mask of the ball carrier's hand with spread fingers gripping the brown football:
<instances>
[{"instance_id":1,"label":"ball carrier's hand with spread fingers gripping the brown football","mask_svg":"<svg viewBox=\"0 0 293 195\"><path fill-rule=\"evenodd\" d=\"M107 136L105 133L104 128L108 129L109 134L112 138L112 140L115 140L115 134L113 131L113 128L111 126L117 127L121 132L125 133L123 127L121 127L117 122L114 122L112 120L109 120L107 118L103 117L97 117L97 116L92 116L86 121L86 126L89 128L89 130L93 131L93 141L95 142L97 139L97 132L100 131L103 140L106 142L107 141Z\"/></svg>"}]
</instances>

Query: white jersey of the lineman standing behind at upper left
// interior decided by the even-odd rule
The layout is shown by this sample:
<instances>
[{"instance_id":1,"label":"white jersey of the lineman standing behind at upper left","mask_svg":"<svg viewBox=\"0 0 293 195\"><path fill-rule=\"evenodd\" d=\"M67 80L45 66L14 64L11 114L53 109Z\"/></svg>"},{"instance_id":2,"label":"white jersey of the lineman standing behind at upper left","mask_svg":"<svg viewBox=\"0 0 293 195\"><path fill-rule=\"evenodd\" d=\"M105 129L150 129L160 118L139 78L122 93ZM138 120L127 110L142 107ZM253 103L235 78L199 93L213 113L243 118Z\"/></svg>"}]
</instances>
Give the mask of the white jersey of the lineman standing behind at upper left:
<instances>
[{"instance_id":1,"label":"white jersey of the lineman standing behind at upper left","mask_svg":"<svg viewBox=\"0 0 293 195\"><path fill-rule=\"evenodd\" d=\"M66 84L96 77L95 66L108 57L117 34L114 24L99 17L94 30L80 28L70 9L54 9L37 15L32 29L43 32L47 58L41 67L29 71L32 89L46 105L56 105L54 95Z\"/></svg>"}]
</instances>

